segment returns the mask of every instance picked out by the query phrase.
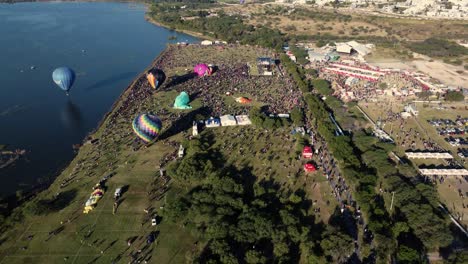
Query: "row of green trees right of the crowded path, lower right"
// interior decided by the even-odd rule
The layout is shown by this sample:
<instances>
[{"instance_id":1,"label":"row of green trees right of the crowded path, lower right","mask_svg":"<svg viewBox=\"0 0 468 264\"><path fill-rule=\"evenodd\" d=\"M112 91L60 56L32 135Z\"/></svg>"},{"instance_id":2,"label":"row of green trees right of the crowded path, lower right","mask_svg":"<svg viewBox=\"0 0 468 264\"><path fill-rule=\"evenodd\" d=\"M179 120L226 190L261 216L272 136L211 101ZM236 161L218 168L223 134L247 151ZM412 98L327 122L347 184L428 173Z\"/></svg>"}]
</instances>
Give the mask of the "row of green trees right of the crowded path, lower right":
<instances>
[{"instance_id":1,"label":"row of green trees right of the crowded path, lower right","mask_svg":"<svg viewBox=\"0 0 468 264\"><path fill-rule=\"evenodd\" d=\"M393 145L378 142L364 131L355 133L353 142L366 167L378 177L381 188L395 197L393 238L417 252L449 246L453 240L449 219L438 208L439 197L434 186L421 182L411 165L395 166L388 157Z\"/></svg>"}]
</instances>

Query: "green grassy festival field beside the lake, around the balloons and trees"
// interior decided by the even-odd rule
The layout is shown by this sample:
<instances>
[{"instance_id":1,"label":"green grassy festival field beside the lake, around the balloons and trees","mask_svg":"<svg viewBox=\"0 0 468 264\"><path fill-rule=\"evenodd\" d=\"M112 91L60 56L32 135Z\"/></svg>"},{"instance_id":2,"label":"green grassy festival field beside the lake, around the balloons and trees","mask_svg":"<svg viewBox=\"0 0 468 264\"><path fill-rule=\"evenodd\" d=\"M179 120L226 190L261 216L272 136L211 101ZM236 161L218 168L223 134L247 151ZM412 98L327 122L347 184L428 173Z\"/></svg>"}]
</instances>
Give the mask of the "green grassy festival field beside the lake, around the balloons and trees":
<instances>
[{"instance_id":1,"label":"green grassy festival field beside the lake, around the balloons and trees","mask_svg":"<svg viewBox=\"0 0 468 264\"><path fill-rule=\"evenodd\" d=\"M217 53L210 49L215 47L169 47L154 62L168 76L159 91L151 92L145 77L137 77L90 136L96 142L85 143L48 190L17 209L22 213L21 222L0 235L0 263L128 263L130 256L138 251L141 251L138 258L149 263L184 263L203 248L204 242L198 241L182 224L172 224L164 218L158 218L157 226L150 223L153 214L161 215L165 204L188 190L184 183L166 182L159 168L167 164L166 160L172 160L171 155L175 155L179 144L186 142L191 132L190 118L204 107L200 97L195 98L191 102L193 108L185 112L172 109L171 104L181 89L193 95L197 84L206 82L215 89L210 77L173 81L197 62L215 63L228 69L236 63L254 62L260 54L270 54L268 50L263 50L262 54L262 50L246 46L232 46ZM223 74L223 70L216 74ZM268 85L271 81L257 82L256 78L264 77L246 78L243 84L265 83L257 86L260 93L275 89ZM286 78L271 78L276 83L273 87L285 86ZM216 89L232 88L224 85L229 84L218 84ZM239 94L248 95L240 88ZM245 111L242 107L249 108L236 105L229 96L222 98L230 113ZM254 103L264 105L261 98L258 96ZM134 142L131 121L137 113L148 111L158 114L164 122L164 130L158 141L142 146ZM314 207L321 209L316 219L327 222L336 206L331 189L320 171L304 175L304 161L296 159L295 138L290 129L285 127L272 132L252 126L220 127L206 129L201 136L212 135L210 149L219 151L228 157L229 164L254 175L257 180L274 179L293 190L310 186L308 198L316 200ZM267 150L262 151L264 148ZM83 214L83 204L92 187L109 174L113 176L105 181L105 194L97 207ZM113 194L122 186L125 191L114 214ZM165 195L156 195L158 192ZM37 201L52 201L49 204L53 207L35 210ZM150 233L155 234L156 241L147 244ZM127 245L129 240L133 241L130 246Z\"/></svg>"}]
</instances>

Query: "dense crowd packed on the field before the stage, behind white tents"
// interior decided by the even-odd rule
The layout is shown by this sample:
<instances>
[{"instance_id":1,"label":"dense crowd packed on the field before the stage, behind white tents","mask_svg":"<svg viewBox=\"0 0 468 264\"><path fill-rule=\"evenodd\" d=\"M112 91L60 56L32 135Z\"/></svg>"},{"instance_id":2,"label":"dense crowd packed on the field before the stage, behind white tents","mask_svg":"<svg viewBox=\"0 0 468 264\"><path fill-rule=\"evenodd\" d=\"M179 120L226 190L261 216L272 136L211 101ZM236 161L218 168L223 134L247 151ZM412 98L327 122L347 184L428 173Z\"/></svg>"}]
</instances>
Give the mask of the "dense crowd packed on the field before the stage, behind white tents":
<instances>
[{"instance_id":1,"label":"dense crowd packed on the field before the stage, behind white tents","mask_svg":"<svg viewBox=\"0 0 468 264\"><path fill-rule=\"evenodd\" d=\"M178 51L180 47L172 49ZM193 67L190 63L197 62L168 59L168 63L161 64L163 67L170 65L170 67L185 68L186 74L190 74ZM187 78L185 82L166 85L162 89L186 91L189 95L195 95L191 99L200 98L203 106L208 107L213 116L248 113L248 105L226 103L226 98L231 96L247 96L254 102L265 105L266 112L273 114L289 113L294 106L301 105L300 93L295 89L292 80L278 77L279 72L277 76L252 76L249 74L250 69L246 61L211 60L207 63L216 66L213 75Z\"/></svg>"}]
</instances>

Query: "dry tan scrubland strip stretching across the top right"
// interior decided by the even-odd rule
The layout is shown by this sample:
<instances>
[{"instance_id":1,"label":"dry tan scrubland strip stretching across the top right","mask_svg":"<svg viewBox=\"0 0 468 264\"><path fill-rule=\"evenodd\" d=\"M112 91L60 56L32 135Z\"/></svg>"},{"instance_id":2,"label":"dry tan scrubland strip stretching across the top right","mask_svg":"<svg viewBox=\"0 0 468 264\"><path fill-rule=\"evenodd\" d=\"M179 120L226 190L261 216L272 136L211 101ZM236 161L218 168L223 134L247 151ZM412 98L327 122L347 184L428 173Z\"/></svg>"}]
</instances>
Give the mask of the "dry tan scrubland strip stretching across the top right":
<instances>
[{"instance_id":1,"label":"dry tan scrubland strip stretching across the top right","mask_svg":"<svg viewBox=\"0 0 468 264\"><path fill-rule=\"evenodd\" d=\"M228 5L221 9L226 13L247 16L252 25L268 25L291 35L388 36L409 41L420 41L431 36L468 38L466 21L395 18L350 9L332 10L280 3ZM294 28L288 28L288 25Z\"/></svg>"}]
</instances>

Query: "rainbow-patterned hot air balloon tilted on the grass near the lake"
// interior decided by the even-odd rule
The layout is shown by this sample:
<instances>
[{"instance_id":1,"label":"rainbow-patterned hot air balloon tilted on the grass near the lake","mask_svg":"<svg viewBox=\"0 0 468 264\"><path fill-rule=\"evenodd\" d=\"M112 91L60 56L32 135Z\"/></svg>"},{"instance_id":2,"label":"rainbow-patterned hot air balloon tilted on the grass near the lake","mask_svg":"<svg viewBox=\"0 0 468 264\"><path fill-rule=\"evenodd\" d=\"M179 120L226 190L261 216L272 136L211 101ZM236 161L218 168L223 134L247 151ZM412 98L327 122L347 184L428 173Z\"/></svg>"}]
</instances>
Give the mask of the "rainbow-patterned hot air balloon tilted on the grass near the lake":
<instances>
[{"instance_id":1,"label":"rainbow-patterned hot air balloon tilted on the grass near the lake","mask_svg":"<svg viewBox=\"0 0 468 264\"><path fill-rule=\"evenodd\" d=\"M148 143L158 137L162 122L153 114L140 114L133 120L132 127L135 134Z\"/></svg>"}]
</instances>

